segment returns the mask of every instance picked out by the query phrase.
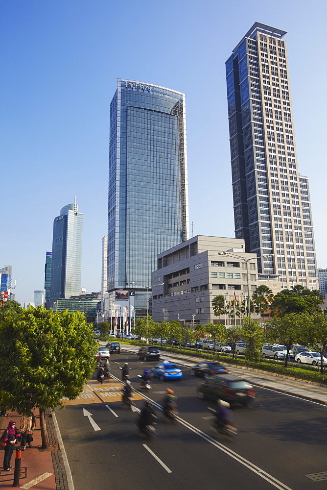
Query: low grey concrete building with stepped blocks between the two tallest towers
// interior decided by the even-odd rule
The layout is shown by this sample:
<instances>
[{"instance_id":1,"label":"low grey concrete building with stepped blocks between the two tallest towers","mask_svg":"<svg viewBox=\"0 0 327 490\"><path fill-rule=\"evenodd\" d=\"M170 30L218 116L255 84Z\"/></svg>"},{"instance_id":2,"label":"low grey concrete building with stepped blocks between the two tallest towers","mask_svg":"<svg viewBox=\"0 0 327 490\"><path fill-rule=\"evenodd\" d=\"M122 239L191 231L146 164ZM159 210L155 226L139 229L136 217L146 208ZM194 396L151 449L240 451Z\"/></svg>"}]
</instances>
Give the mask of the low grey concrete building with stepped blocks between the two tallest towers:
<instances>
[{"instance_id":1,"label":"low grey concrete building with stepped blocks between the two tallest towers","mask_svg":"<svg viewBox=\"0 0 327 490\"><path fill-rule=\"evenodd\" d=\"M152 273L154 321L219 323L212 298L222 294L229 302L236 297L244 305L258 285L257 255L245 252L243 239L198 235L157 255L157 264ZM222 315L221 322L229 324L228 316Z\"/></svg>"}]
</instances>

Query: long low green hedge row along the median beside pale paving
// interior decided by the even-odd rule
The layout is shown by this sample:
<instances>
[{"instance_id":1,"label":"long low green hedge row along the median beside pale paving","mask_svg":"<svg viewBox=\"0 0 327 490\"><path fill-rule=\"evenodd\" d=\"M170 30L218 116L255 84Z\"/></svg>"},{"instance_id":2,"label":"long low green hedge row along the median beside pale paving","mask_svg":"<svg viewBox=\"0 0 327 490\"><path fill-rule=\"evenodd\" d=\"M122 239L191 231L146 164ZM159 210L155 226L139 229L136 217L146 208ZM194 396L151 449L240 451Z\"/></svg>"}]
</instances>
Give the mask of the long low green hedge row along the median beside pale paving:
<instances>
[{"instance_id":1,"label":"long low green hedge row along the median beside pale paving","mask_svg":"<svg viewBox=\"0 0 327 490\"><path fill-rule=\"evenodd\" d=\"M115 337L112 337L110 340L116 339ZM117 340L117 339L116 339ZM125 344L130 344L130 345L145 345L145 341L139 341L139 340L124 340L121 342L120 339L118 339L120 343L125 343ZM228 363L229 365L232 366L245 366L247 368L254 368L254 369L260 369L262 371L268 371L268 372L273 372L275 374L281 374L285 376L291 376L297 379L303 379L305 381L314 381L316 383L320 384L327 384L327 375L325 374L320 374L317 372L317 368L313 368L311 366L308 366L308 368L298 368L298 365L295 365L294 367L287 367L285 368L283 365L281 365L278 361L267 361L265 360L264 362L262 361L249 361L245 358L240 358L240 357L232 357L229 356L228 354L223 354L223 353L216 353L213 354L211 352L204 352L203 350L194 350L194 349L179 349L176 347L170 347L168 345L164 345L161 347L160 344L156 345L157 347L160 347L161 350L165 352L171 352L174 354L184 354L190 357L199 357L201 359L210 359L210 360L216 360L216 361L223 361Z\"/></svg>"}]
</instances>

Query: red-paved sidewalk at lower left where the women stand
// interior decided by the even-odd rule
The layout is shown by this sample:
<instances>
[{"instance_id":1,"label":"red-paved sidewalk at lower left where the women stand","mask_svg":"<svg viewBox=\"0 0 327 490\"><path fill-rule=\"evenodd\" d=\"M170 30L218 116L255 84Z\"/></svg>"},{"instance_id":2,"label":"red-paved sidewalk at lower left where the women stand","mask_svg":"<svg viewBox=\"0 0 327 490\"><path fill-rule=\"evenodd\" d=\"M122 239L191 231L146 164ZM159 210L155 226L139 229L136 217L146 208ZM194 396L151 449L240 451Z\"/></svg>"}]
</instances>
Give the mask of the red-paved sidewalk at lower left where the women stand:
<instances>
[{"instance_id":1,"label":"red-paved sidewalk at lower left where the women stand","mask_svg":"<svg viewBox=\"0 0 327 490\"><path fill-rule=\"evenodd\" d=\"M58 438L55 430L54 421L51 412L47 413L47 428L49 432L50 444L58 446L58 450L40 451L41 442L40 420L38 411L34 412L36 418L36 429L33 432L32 447L26 446L25 451L21 451L21 472L20 484L16 488L32 489L32 490L71 490L69 489L66 471L63 463L61 450L58 445ZM10 420L15 420L19 429L21 416L16 412L7 412L7 417L0 417L1 434L8 427ZM20 447L20 443L15 446ZM11 458L11 471L3 471L3 454L4 449L0 448L0 489L12 489L14 481L14 467L16 450L14 450Z\"/></svg>"}]
</instances>

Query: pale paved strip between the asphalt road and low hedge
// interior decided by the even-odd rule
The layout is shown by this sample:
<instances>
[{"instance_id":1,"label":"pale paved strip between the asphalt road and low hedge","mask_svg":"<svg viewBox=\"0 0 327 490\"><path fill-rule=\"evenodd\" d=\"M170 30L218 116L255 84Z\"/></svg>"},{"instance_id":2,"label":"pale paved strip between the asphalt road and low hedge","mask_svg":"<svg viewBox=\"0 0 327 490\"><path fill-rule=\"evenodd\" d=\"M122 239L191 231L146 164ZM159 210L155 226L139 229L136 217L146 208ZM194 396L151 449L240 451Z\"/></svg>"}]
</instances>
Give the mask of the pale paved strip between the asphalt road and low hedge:
<instances>
[{"instance_id":1,"label":"pale paved strip between the asphalt road and low hedge","mask_svg":"<svg viewBox=\"0 0 327 490\"><path fill-rule=\"evenodd\" d=\"M128 347L126 349L126 346ZM124 344L125 350L130 350L131 352L138 352L139 347L134 349L134 346ZM190 368L194 364L205 362L205 359L191 357L184 354L171 354L170 352L163 352L162 358L176 362L182 359L182 366ZM165 355L166 354L166 355ZM183 362L184 361L184 362ZM255 368L246 368L244 366L233 366L228 363L220 361L223 366L228 366L230 372L237 374L246 378L253 385L260 386L262 388L268 388L270 390L275 390L277 392L286 393L292 396L298 396L299 398L304 398L305 400L314 401L316 403L322 403L327 405L327 387L320 386L318 383L311 381L301 381L293 377L282 376L275 373L268 373L267 371L261 371Z\"/></svg>"}]
</instances>

